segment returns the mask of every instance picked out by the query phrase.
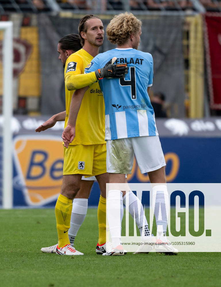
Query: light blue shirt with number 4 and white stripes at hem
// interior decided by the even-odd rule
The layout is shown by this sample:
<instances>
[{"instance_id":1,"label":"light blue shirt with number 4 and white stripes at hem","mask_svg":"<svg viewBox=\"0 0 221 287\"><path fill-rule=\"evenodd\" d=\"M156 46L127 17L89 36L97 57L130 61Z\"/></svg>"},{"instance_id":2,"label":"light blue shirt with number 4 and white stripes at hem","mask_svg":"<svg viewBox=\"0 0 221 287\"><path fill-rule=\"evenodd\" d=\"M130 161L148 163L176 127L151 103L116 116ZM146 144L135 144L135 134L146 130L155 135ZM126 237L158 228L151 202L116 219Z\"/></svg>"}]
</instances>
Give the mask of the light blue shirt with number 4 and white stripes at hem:
<instances>
[{"instance_id":1,"label":"light blue shirt with number 4 and white stripes at hem","mask_svg":"<svg viewBox=\"0 0 221 287\"><path fill-rule=\"evenodd\" d=\"M104 67L113 57L117 57L115 63L127 63L129 71L124 79L99 80L105 102L105 139L158 135L147 93L153 83L151 54L132 48L112 49L97 55L85 73Z\"/></svg>"}]
</instances>

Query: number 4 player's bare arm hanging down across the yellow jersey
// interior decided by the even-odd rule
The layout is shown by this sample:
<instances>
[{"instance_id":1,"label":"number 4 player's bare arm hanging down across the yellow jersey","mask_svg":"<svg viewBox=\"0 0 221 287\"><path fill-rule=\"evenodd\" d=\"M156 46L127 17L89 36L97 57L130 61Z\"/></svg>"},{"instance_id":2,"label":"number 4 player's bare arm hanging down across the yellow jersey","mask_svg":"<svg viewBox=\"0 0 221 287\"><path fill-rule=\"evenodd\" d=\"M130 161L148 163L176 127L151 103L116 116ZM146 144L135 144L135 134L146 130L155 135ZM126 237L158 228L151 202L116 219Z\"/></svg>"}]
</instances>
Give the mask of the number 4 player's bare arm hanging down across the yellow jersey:
<instances>
[{"instance_id":1,"label":"number 4 player's bare arm hanging down across the yellow jersey","mask_svg":"<svg viewBox=\"0 0 221 287\"><path fill-rule=\"evenodd\" d=\"M70 113L68 117L68 125L62 133L62 139L64 141L64 146L68 148L69 144L73 141L75 137L75 126L78 112L80 110L81 102L84 97L84 93L89 87L84 87L76 90L72 96L70 103Z\"/></svg>"}]
</instances>

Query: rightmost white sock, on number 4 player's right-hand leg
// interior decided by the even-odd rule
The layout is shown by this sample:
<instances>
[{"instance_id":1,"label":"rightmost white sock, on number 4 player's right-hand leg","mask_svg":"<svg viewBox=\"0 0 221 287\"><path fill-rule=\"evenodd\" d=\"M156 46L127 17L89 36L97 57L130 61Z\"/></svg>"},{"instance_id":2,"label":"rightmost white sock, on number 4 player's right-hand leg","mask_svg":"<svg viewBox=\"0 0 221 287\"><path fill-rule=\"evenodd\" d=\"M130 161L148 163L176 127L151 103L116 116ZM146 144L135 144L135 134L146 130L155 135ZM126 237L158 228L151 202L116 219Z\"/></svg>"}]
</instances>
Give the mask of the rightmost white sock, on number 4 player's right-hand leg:
<instances>
[{"instance_id":1,"label":"rightmost white sock, on number 4 player's right-hand leg","mask_svg":"<svg viewBox=\"0 0 221 287\"><path fill-rule=\"evenodd\" d=\"M169 214L169 195L166 185L153 187L153 209L157 225L157 239L167 240L167 220Z\"/></svg>"}]
</instances>

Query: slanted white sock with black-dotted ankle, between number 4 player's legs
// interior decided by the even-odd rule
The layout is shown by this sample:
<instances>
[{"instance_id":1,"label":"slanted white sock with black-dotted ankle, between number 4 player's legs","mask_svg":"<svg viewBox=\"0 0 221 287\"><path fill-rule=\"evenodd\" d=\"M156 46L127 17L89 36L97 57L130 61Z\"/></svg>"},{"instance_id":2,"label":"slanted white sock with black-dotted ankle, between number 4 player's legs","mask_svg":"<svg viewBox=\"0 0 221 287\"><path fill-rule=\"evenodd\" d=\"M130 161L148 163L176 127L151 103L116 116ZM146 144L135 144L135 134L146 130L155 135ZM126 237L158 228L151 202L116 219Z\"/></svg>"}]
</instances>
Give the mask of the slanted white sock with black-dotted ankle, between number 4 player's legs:
<instances>
[{"instance_id":1,"label":"slanted white sock with black-dotted ankle, between number 4 player's legs","mask_svg":"<svg viewBox=\"0 0 221 287\"><path fill-rule=\"evenodd\" d=\"M123 197L124 205L126 205L126 197L128 197L129 200L129 213L132 218L135 216L135 221L141 236L150 236L147 219L140 199L132 191L129 191Z\"/></svg>"}]
</instances>

